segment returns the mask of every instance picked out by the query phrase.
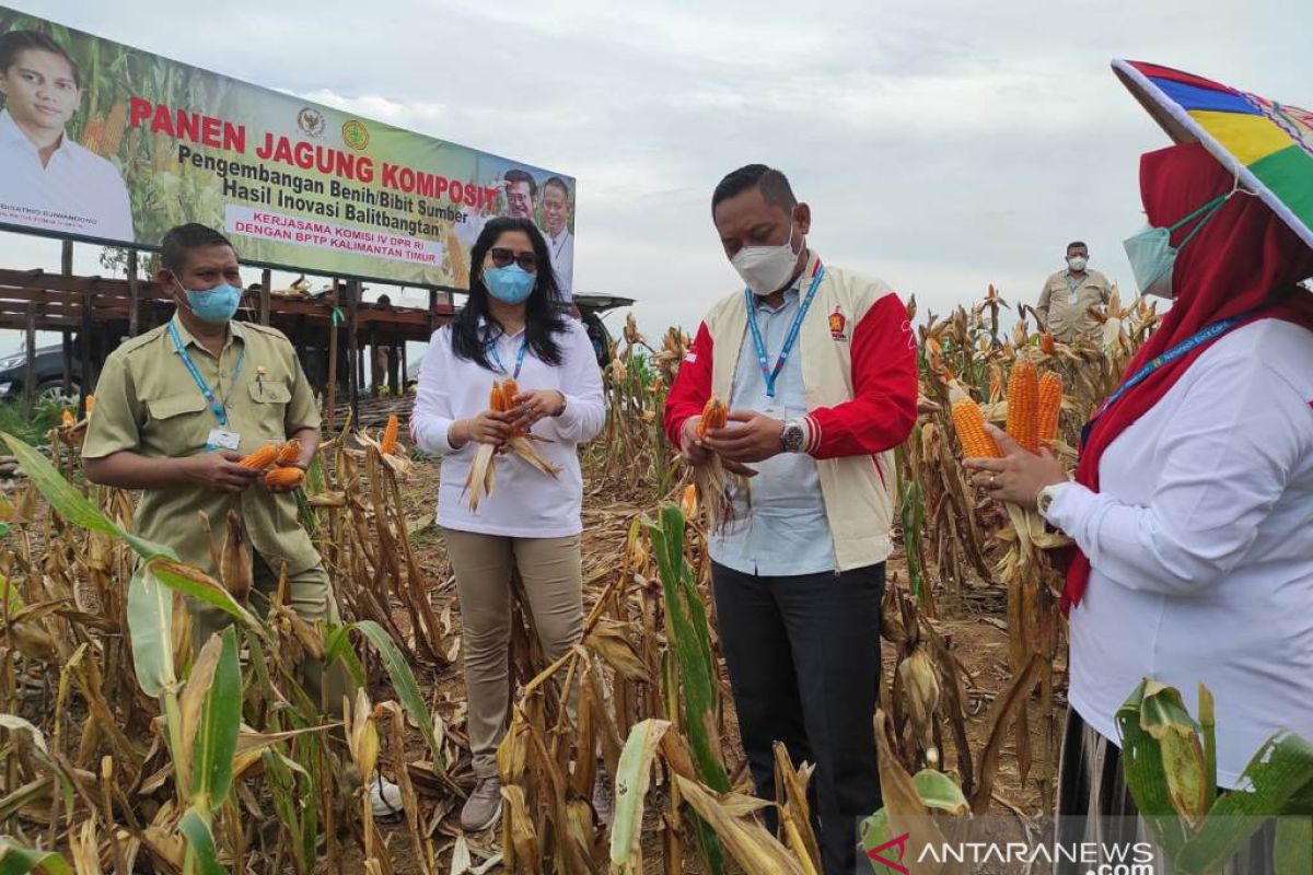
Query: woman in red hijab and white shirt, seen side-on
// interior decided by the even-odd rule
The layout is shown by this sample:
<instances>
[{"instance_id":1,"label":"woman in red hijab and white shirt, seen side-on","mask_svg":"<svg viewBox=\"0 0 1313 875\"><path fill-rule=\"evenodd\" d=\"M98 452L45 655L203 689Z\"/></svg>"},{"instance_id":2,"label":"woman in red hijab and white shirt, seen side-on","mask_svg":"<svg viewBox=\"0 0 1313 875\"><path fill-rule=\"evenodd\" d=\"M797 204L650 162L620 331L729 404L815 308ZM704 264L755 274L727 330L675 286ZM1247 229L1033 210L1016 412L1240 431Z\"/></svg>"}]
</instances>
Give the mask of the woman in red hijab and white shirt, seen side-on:
<instances>
[{"instance_id":1,"label":"woman in red hijab and white shirt, seen side-on","mask_svg":"<svg viewBox=\"0 0 1313 875\"><path fill-rule=\"evenodd\" d=\"M1212 691L1222 787L1275 732L1313 739L1313 293L1297 285L1313 249L1197 143L1145 155L1140 181L1158 231L1127 251L1141 290L1174 303L1091 420L1075 481L998 429L1004 458L968 463L1078 548L1065 816L1136 815L1113 715L1146 677L1192 711ZM1229 871L1270 871L1262 836Z\"/></svg>"}]
</instances>

